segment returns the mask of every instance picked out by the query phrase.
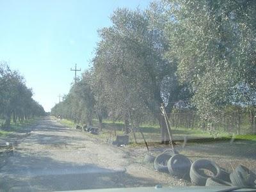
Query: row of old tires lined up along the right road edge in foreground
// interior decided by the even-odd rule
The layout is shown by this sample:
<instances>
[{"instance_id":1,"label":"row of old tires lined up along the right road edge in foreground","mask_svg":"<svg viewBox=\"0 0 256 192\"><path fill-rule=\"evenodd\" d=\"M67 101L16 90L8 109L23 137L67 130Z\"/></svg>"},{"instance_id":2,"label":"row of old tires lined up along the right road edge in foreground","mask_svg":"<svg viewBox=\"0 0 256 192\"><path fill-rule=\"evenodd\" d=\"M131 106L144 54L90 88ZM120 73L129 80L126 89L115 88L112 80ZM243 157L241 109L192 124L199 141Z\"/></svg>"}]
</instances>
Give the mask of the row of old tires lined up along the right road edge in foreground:
<instances>
[{"instance_id":1,"label":"row of old tires lined up along the right road edge in foreground","mask_svg":"<svg viewBox=\"0 0 256 192\"><path fill-rule=\"evenodd\" d=\"M152 161L152 156L148 157ZM154 159L154 168L174 177L191 180L197 186L255 186L256 174L243 165L228 173L208 159L194 163L175 150L165 150Z\"/></svg>"}]
</instances>

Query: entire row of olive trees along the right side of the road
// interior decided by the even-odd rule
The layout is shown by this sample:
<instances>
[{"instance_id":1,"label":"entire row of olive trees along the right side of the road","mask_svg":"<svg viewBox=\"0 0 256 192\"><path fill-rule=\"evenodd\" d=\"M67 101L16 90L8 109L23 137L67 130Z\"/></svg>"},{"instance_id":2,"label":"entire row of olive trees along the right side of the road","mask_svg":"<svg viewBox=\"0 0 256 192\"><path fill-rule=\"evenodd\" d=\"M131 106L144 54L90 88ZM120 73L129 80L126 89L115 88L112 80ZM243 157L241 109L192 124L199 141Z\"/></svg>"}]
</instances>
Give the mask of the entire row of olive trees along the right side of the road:
<instances>
[{"instance_id":1,"label":"entire row of olive trees along the right side of the road","mask_svg":"<svg viewBox=\"0 0 256 192\"><path fill-rule=\"evenodd\" d=\"M99 124L121 119L128 132L150 114L163 142L161 103L167 113L195 111L211 132L229 109L247 111L255 122L255 10L256 1L233 0L162 0L144 11L115 10L112 26L99 30L92 68L52 115L86 124L93 116Z\"/></svg>"}]
</instances>

